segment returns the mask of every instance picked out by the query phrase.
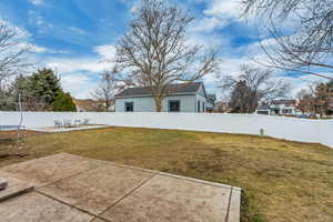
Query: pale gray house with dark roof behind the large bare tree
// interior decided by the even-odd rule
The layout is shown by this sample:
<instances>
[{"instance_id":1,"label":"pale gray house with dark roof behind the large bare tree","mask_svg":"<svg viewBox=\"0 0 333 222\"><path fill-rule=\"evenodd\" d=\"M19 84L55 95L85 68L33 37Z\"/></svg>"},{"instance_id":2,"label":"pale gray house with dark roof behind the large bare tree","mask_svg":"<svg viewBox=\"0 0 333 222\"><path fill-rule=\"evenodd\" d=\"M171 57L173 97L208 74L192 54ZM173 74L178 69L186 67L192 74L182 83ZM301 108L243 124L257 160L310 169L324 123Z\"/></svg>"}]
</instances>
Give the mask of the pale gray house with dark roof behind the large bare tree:
<instances>
[{"instance_id":1,"label":"pale gray house with dark roof behind the large bare tree","mask_svg":"<svg viewBox=\"0 0 333 222\"><path fill-rule=\"evenodd\" d=\"M213 100L208 99L202 82L172 84L162 101L162 112L206 112ZM149 88L128 88L115 95L115 112L154 112L154 99Z\"/></svg>"}]
</instances>

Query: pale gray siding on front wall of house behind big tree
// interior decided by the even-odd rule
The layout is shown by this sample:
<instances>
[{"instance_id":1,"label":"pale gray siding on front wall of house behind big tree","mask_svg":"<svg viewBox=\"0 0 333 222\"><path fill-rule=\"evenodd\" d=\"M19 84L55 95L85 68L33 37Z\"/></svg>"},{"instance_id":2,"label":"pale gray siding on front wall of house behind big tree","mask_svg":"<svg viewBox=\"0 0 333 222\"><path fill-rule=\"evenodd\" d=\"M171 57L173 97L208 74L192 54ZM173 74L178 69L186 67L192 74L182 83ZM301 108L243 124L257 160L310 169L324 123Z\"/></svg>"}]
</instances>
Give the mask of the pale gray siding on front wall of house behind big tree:
<instances>
[{"instance_id":1,"label":"pale gray siding on front wall of house behind big tree","mask_svg":"<svg viewBox=\"0 0 333 222\"><path fill-rule=\"evenodd\" d=\"M196 112L196 97L193 95L171 95L163 100L162 112L169 111L169 101L180 101L180 112ZM133 102L134 112L154 112L154 100L151 97L118 98L115 99L115 112L125 111L125 102Z\"/></svg>"}]
</instances>

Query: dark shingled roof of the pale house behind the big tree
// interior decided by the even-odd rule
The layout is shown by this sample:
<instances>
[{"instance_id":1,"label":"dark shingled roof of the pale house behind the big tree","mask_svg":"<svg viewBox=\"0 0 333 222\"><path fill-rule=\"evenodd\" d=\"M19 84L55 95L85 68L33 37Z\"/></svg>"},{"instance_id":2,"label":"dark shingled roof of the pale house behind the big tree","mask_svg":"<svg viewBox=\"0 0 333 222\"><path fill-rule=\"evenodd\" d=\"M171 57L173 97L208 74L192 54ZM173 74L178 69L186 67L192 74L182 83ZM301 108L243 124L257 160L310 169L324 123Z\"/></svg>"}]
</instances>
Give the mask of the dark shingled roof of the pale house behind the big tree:
<instances>
[{"instance_id":1,"label":"dark shingled roof of the pale house behind the big tree","mask_svg":"<svg viewBox=\"0 0 333 222\"><path fill-rule=\"evenodd\" d=\"M180 83L171 84L169 88L170 94L183 94L183 93L195 93L202 85L202 82ZM115 98L122 97L140 97L150 95L151 91L149 87L143 88L128 88L115 95Z\"/></svg>"}]
</instances>

